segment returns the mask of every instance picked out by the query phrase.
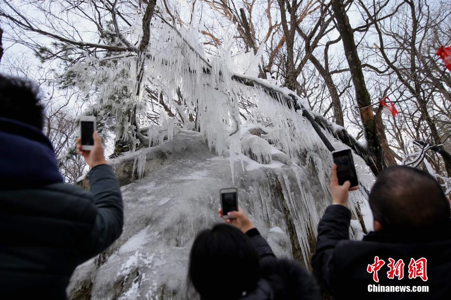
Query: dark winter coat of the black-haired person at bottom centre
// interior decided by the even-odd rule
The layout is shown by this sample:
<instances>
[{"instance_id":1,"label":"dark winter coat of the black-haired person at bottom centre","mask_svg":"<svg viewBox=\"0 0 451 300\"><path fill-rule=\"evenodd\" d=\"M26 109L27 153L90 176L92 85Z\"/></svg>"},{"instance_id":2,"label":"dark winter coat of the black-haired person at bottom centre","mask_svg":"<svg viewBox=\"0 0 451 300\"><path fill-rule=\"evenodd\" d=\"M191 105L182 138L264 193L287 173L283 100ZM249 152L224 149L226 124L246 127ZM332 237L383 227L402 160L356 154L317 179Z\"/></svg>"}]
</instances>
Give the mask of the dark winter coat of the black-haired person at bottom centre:
<instances>
[{"instance_id":1,"label":"dark winter coat of the black-haired person at bottom centre","mask_svg":"<svg viewBox=\"0 0 451 300\"><path fill-rule=\"evenodd\" d=\"M262 278L257 288L242 300L319 300L320 289L314 277L299 263L277 259L257 229L246 232L260 257Z\"/></svg>"}]
</instances>

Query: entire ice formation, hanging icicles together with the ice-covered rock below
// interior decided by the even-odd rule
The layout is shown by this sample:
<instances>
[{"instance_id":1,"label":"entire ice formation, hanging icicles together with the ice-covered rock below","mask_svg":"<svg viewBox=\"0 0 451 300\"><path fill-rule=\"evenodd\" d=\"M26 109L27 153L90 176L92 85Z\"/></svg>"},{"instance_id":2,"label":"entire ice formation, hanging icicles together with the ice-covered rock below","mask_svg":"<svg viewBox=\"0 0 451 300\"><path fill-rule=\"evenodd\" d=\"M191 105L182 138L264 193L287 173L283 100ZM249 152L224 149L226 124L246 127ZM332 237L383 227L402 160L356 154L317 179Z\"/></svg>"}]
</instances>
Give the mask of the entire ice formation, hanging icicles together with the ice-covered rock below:
<instances>
[{"instance_id":1,"label":"entire ice formation, hanging icicles together with the ice-covered rock below","mask_svg":"<svg viewBox=\"0 0 451 300\"><path fill-rule=\"evenodd\" d=\"M142 34L138 21L121 30L131 40ZM100 267L93 262L78 270L71 293L87 272L95 273L88 279L94 298L182 299L190 243L197 231L218 221L218 191L229 186L239 188L240 205L277 254L293 256L299 248L296 258L308 263L316 226L330 198L330 152L309 121L284 100L293 92L257 78L261 52L254 56L237 51L232 43L235 30L233 24L225 28L223 43L207 58L197 28L156 22L145 55L99 60L87 54L85 62L67 70L86 93L94 87L98 101L92 109L115 120L118 139L145 146L133 147L113 162L121 174L132 161L123 187L124 234L106 259L97 259ZM138 91L137 57L145 60L145 79ZM246 79L254 84L244 84ZM145 97L148 90L175 108L182 122L163 112L160 125L140 118L152 105ZM296 101L308 107L305 99ZM253 105L244 110L243 102ZM138 134L130 122L133 110ZM194 124L187 121L189 115L196 116ZM324 134L336 149L345 148ZM369 189L370 171L360 157L354 161L362 186ZM365 207L365 199L362 190L352 193L354 216L356 205ZM351 235L360 236L359 223L353 224Z\"/></svg>"}]
</instances>

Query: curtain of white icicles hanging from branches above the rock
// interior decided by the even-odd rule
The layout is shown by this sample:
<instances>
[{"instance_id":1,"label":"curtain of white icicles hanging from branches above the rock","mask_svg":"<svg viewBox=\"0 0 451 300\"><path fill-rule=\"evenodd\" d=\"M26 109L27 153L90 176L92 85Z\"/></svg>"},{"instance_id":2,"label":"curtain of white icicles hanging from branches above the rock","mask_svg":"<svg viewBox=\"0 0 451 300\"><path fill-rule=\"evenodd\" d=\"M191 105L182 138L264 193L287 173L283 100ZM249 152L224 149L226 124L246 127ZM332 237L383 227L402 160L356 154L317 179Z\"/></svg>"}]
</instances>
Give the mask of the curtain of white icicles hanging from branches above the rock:
<instances>
[{"instance_id":1,"label":"curtain of white icicles hanging from branches above the rock","mask_svg":"<svg viewBox=\"0 0 451 300\"><path fill-rule=\"evenodd\" d=\"M137 24L139 24L138 21ZM233 36L236 25L230 24L223 30L222 44L218 46L216 54L208 58L207 63L197 28L187 25L174 30L165 23L157 22L157 24L154 25L156 27L151 28L151 39L147 48L145 85L152 90L163 92L164 101L173 107L177 106L173 99L177 99L177 90L180 90L186 105L179 112L186 116L188 114L196 116L196 130L203 135L210 150L218 154L229 150L232 176L234 161L240 159L242 149L252 152L256 157L255 160L260 164L271 162L269 143L256 141L256 137L249 135L244 136L243 140L241 138L238 101L245 99L255 104L255 107L249 109L248 120L270 125L267 134L262 137L278 150L289 155L293 166L300 164L301 154L306 155L307 163L316 168L324 194L329 195L328 180L332 166L330 152L325 148L311 124L283 101L274 99L274 95L268 94L261 86L248 87L232 80L234 73L240 73L264 85L272 86L274 90L278 90L279 96L286 96L290 92L290 90L278 88L270 81L256 78L260 52L253 56L249 53L240 53L234 48ZM127 36L141 34L140 26L123 30L132 31ZM264 45L260 48L263 47ZM117 120L117 138L129 139L129 116L126 115L128 108L138 105L139 113L142 114L149 109L146 97L142 96L144 92L141 92L138 98L129 95L136 84L136 56L117 57L114 60L98 60L88 56L86 62L69 71L76 74L74 82L80 88L89 90L93 86L96 87L99 96L93 109L100 115L109 113L114 116ZM304 105L308 107L307 103ZM169 129L167 137L171 139L176 124L174 120L169 122L167 120L163 121L166 121L165 129ZM149 125L144 120L140 122L142 125ZM149 127L146 135L149 138L147 146L161 144L164 139L161 132L152 131L152 127ZM343 148L343 145L331 135L329 137L337 149ZM139 142L136 141L136 143ZM242 143L245 145L244 148ZM361 166L358 171L361 174L367 172L364 163L358 158L356 160ZM140 178L145 170L145 154L137 156L135 164L137 164L137 177ZM284 174L282 178L288 190L288 207L294 218L302 252L304 257L308 257L310 248L307 233L313 231L316 236L316 226L320 219L316 204L318 201L325 200L314 199L309 187L303 184L298 168L293 167L292 170L301 191L300 199L293 199L287 174ZM354 193L354 201L363 201L365 195L362 193ZM298 203L299 201L301 204ZM354 210L354 205L351 205L351 209Z\"/></svg>"}]
</instances>

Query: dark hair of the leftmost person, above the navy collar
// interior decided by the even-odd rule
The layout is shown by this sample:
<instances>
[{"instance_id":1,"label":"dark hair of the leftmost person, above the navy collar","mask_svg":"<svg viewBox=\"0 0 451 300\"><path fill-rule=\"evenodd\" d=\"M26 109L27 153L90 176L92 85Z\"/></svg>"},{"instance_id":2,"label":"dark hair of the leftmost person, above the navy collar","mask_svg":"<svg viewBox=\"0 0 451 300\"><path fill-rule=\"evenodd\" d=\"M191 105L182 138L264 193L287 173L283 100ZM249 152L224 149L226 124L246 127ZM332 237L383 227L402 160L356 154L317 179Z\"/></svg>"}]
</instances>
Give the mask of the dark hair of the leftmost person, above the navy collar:
<instances>
[{"instance_id":1,"label":"dark hair of the leftmost person, above the navy collar","mask_svg":"<svg viewBox=\"0 0 451 300\"><path fill-rule=\"evenodd\" d=\"M32 81L0 75L0 117L44 127L44 108Z\"/></svg>"}]
</instances>

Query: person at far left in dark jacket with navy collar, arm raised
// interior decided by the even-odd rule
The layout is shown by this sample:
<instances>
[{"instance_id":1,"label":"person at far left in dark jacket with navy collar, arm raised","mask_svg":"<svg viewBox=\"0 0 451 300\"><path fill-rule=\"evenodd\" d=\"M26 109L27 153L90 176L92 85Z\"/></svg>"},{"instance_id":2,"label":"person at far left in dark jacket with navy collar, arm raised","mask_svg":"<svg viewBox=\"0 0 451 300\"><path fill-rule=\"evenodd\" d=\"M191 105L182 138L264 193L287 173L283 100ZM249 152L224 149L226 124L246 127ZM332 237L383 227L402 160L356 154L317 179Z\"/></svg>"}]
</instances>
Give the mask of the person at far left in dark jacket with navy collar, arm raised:
<instances>
[{"instance_id":1,"label":"person at far left in dark jacket with navy collar, arm raised","mask_svg":"<svg viewBox=\"0 0 451 300\"><path fill-rule=\"evenodd\" d=\"M74 269L122 232L118 181L95 133L79 145L91 191L64 184L31 83L0 76L0 105L0 297L65 299Z\"/></svg>"}]
</instances>

